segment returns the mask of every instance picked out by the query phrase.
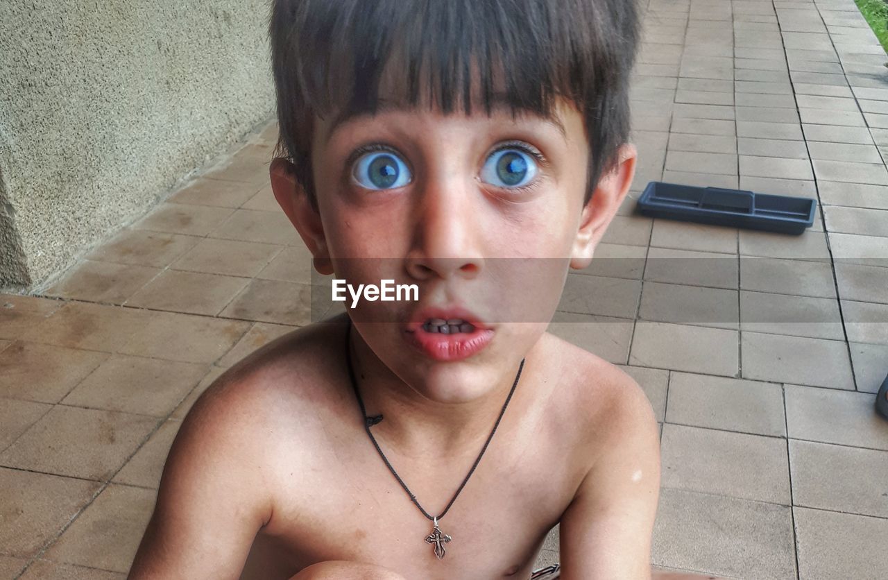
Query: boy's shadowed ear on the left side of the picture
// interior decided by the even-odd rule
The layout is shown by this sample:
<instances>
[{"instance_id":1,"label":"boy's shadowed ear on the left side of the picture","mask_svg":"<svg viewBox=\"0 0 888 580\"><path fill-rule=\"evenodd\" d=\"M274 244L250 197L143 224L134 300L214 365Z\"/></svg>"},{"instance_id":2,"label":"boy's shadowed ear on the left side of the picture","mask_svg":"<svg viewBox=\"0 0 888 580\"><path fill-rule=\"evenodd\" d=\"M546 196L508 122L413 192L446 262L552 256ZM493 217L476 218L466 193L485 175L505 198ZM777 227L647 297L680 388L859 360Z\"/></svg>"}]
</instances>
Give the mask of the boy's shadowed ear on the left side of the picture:
<instances>
[{"instance_id":1,"label":"boy's shadowed ear on the left side of the picture","mask_svg":"<svg viewBox=\"0 0 888 580\"><path fill-rule=\"evenodd\" d=\"M281 204L283 212L296 226L299 237L312 252L314 269L320 274L333 274L321 214L314 210L305 188L296 178L296 167L286 159L275 157L269 174L274 199Z\"/></svg>"}]
</instances>

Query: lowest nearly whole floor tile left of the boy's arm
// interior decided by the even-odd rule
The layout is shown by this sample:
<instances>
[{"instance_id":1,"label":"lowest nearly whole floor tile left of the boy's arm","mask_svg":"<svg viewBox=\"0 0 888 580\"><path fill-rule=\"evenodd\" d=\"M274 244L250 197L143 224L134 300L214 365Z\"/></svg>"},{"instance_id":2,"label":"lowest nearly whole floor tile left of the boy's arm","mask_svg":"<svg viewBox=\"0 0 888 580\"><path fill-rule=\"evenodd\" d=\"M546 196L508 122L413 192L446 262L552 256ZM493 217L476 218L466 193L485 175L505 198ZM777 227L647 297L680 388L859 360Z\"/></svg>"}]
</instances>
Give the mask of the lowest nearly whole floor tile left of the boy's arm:
<instances>
[{"instance_id":1,"label":"lowest nearly whole floor tile left of the boy's arm","mask_svg":"<svg viewBox=\"0 0 888 580\"><path fill-rule=\"evenodd\" d=\"M52 544L45 557L128 572L154 506L154 490L111 484Z\"/></svg>"}]
</instances>

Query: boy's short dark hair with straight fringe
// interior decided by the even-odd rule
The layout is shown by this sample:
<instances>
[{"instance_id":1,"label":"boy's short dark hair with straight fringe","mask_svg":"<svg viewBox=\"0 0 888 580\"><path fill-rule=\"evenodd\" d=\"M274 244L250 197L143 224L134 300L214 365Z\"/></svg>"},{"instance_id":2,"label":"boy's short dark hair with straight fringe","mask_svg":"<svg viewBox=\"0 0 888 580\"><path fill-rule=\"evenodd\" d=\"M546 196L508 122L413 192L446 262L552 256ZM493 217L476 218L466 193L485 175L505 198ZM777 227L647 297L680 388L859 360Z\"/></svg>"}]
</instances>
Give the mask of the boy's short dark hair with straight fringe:
<instances>
[{"instance_id":1,"label":"boy's short dark hair with straight fringe","mask_svg":"<svg viewBox=\"0 0 888 580\"><path fill-rule=\"evenodd\" d=\"M281 136L314 198L313 115L374 113L384 69L403 71L410 106L424 95L448 114L472 91L490 114L495 86L512 114L550 116L572 101L589 139L585 199L629 140L637 0L274 0L269 36ZM472 87L472 65L479 87ZM504 91L503 91L504 90ZM315 205L315 208L317 206Z\"/></svg>"}]
</instances>

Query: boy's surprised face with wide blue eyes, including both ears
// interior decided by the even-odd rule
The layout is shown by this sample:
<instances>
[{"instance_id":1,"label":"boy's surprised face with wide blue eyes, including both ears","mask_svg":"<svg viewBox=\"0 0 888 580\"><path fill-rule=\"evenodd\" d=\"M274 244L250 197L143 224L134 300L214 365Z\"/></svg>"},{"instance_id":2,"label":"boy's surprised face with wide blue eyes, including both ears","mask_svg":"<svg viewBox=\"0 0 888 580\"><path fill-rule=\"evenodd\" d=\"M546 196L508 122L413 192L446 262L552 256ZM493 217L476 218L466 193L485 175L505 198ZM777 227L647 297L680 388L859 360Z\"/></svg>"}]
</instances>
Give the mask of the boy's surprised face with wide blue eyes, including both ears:
<instances>
[{"instance_id":1,"label":"boy's surprised face with wide blue eyes, including both ears","mask_svg":"<svg viewBox=\"0 0 888 580\"><path fill-rule=\"evenodd\" d=\"M551 119L388 105L342 123L316 119L318 212L281 160L274 194L321 274L419 287L417 302L362 301L355 326L424 396L472 400L541 336L567 266L589 264L630 187L635 148L623 147L584 205L589 145L566 101ZM462 322L445 333L445 319Z\"/></svg>"}]
</instances>

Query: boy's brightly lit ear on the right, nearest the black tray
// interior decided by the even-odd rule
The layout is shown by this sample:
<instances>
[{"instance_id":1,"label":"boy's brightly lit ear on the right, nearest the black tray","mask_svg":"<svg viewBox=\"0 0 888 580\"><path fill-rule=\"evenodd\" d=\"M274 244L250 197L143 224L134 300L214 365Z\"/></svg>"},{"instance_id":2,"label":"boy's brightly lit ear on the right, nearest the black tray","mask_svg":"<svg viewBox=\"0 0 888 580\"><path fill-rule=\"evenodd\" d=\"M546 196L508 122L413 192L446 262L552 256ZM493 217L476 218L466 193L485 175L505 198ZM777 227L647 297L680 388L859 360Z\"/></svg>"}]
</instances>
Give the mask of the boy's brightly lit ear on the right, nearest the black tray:
<instances>
[{"instance_id":1,"label":"boy's brightly lit ear on the right, nearest the black tray","mask_svg":"<svg viewBox=\"0 0 888 580\"><path fill-rule=\"evenodd\" d=\"M595 247L629 193L638 160L636 147L631 143L623 144L617 150L617 160L618 163L601 176L589 203L583 207L570 259L570 267L575 270L589 266Z\"/></svg>"}]
</instances>

